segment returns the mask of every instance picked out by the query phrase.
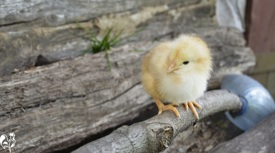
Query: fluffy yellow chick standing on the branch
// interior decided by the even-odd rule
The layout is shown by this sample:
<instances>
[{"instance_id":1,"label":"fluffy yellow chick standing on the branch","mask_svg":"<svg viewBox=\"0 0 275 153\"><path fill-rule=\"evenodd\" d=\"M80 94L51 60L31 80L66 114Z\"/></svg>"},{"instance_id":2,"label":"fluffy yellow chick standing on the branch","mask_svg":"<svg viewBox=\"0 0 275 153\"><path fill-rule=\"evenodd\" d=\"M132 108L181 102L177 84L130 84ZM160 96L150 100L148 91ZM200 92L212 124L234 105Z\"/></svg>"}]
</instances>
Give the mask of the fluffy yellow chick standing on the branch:
<instances>
[{"instance_id":1,"label":"fluffy yellow chick standing on the branch","mask_svg":"<svg viewBox=\"0 0 275 153\"><path fill-rule=\"evenodd\" d=\"M159 115L170 109L179 116L173 106L183 103L199 119L194 105L201 106L195 100L206 91L212 71L211 52L201 38L180 35L172 42L161 43L146 55L141 70L141 82L155 100Z\"/></svg>"}]
</instances>

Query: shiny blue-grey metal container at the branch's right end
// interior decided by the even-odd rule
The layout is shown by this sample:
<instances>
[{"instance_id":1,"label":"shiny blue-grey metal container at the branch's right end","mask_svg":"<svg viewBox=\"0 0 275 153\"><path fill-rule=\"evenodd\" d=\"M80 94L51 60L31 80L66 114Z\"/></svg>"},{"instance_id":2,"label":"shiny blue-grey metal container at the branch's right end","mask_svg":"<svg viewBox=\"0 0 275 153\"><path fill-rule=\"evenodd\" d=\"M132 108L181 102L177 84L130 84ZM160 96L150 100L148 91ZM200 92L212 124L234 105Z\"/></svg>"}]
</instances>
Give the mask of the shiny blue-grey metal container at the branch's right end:
<instances>
[{"instance_id":1,"label":"shiny blue-grey metal container at the branch's right end","mask_svg":"<svg viewBox=\"0 0 275 153\"><path fill-rule=\"evenodd\" d=\"M247 75L226 75L221 89L237 94L243 103L240 112L227 118L240 129L247 131L275 110L275 102L270 93L259 82Z\"/></svg>"}]
</instances>

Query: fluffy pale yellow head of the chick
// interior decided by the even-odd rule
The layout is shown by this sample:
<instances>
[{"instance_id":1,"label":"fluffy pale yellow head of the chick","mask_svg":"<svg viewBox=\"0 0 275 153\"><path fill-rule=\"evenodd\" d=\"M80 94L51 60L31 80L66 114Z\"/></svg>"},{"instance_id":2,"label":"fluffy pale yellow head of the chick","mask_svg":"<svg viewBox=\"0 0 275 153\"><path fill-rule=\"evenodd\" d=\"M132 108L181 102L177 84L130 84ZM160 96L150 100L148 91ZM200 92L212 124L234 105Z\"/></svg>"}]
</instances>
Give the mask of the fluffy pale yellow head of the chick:
<instances>
[{"instance_id":1,"label":"fluffy pale yellow head of the chick","mask_svg":"<svg viewBox=\"0 0 275 153\"><path fill-rule=\"evenodd\" d=\"M209 75L212 71L211 52L199 37L181 35L172 42L167 73Z\"/></svg>"}]
</instances>

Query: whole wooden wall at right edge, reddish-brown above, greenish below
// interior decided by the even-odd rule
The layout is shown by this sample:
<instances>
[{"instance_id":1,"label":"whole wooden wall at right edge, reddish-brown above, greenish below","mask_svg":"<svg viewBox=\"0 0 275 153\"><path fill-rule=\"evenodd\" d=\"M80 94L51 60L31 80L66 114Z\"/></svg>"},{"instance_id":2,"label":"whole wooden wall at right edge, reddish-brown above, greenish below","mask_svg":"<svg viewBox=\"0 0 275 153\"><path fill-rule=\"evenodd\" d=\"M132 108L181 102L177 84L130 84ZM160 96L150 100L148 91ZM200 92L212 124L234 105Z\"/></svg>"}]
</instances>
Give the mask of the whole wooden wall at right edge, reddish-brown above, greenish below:
<instances>
[{"instance_id":1,"label":"whole wooden wall at right edge, reddish-brown above, greenish below","mask_svg":"<svg viewBox=\"0 0 275 153\"><path fill-rule=\"evenodd\" d=\"M248 0L245 33L247 45L256 54L252 77L275 99L275 1Z\"/></svg>"}]
</instances>

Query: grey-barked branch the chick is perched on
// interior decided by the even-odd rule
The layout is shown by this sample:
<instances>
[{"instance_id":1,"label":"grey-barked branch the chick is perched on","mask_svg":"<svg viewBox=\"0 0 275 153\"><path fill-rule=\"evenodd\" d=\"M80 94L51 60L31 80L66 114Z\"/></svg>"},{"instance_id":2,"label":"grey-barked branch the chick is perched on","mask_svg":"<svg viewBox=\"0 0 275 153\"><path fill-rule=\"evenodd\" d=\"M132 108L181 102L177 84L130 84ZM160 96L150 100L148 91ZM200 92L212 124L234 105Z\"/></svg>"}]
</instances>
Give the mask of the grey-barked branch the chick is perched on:
<instances>
[{"instance_id":1,"label":"grey-barked branch the chick is perched on","mask_svg":"<svg viewBox=\"0 0 275 153\"><path fill-rule=\"evenodd\" d=\"M205 93L197 101L202 109L198 110L200 118L212 115L219 111L238 111L242 103L239 97L227 90L212 90ZM90 142L77 152L159 152L166 149L171 141L183 130L191 126L196 117L192 111L184 107L177 107L181 118L172 111L164 111L144 122L131 126L122 126L101 139Z\"/></svg>"}]
</instances>

